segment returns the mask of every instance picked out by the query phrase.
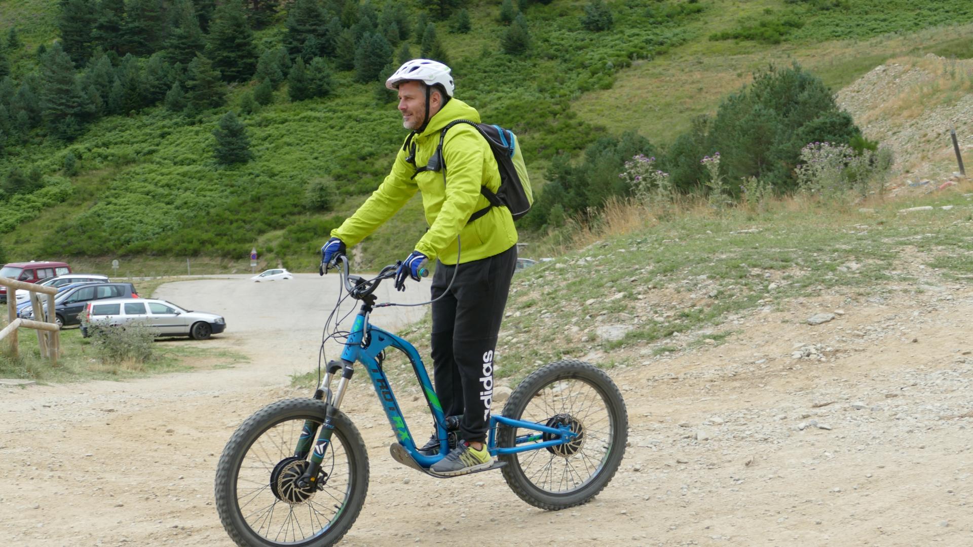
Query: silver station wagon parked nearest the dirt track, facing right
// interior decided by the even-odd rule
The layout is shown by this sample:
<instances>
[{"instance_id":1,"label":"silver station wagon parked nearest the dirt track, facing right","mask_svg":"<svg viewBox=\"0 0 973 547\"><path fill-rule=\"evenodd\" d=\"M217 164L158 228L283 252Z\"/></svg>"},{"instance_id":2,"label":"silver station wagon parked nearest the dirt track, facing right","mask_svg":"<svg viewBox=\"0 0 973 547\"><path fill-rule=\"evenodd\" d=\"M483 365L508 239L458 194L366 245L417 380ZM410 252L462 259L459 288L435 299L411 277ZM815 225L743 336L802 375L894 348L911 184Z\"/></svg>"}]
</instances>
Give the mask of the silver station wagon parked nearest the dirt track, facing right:
<instances>
[{"instance_id":1,"label":"silver station wagon parked nearest the dirt track, facing right","mask_svg":"<svg viewBox=\"0 0 973 547\"><path fill-rule=\"evenodd\" d=\"M227 328L222 315L187 310L171 302L149 298L89 302L86 313L90 325L124 327L139 322L155 330L156 336L190 336L206 340ZM88 337L88 330L82 328L81 335Z\"/></svg>"}]
</instances>

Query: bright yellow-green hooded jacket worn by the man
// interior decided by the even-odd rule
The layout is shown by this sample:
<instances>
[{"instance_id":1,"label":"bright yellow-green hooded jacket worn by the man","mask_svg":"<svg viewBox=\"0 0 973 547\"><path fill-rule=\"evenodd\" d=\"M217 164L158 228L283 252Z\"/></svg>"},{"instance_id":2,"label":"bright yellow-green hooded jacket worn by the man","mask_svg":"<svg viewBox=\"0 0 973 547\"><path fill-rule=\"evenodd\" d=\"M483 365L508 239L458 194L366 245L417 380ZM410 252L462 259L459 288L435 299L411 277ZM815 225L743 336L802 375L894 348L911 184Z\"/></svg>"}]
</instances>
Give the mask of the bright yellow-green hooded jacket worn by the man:
<instances>
[{"instance_id":1,"label":"bright yellow-green hooded jacket worn by the man","mask_svg":"<svg viewBox=\"0 0 973 547\"><path fill-rule=\"evenodd\" d=\"M453 120L480 122L480 113L465 102L452 98L413 138L415 164L425 165L439 146L440 131ZM462 245L459 262L467 263L499 254L517 243L517 229L507 207L490 207L481 218L466 224L470 215L489 205L480 193L486 186L494 193L500 188L500 172L486 139L476 128L458 124L446 133L443 156L446 161L446 184L442 171L422 171L412 178L415 167L406 161L408 152L399 150L392 170L372 196L357 211L331 231L352 246L374 232L418 190L422 193L429 231L415 243L415 250L430 261L439 258L443 264L456 264L456 236Z\"/></svg>"}]
</instances>

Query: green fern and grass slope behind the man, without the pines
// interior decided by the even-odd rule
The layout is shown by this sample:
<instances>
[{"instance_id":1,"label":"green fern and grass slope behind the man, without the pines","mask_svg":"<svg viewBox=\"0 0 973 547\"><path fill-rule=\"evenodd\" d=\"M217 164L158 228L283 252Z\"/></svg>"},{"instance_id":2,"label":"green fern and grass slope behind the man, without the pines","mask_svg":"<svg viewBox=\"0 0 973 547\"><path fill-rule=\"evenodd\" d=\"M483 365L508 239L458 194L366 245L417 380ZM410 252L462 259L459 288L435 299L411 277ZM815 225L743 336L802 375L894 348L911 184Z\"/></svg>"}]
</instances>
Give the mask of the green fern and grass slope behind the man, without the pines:
<instances>
[{"instance_id":1,"label":"green fern and grass slope behind the man, without the pines","mask_svg":"<svg viewBox=\"0 0 973 547\"><path fill-rule=\"evenodd\" d=\"M0 0L0 37L16 25L24 42L9 55L15 77L33 69L38 45L54 40L56 4ZM768 62L801 61L840 87L890 56L973 54L965 24L973 9L960 3L614 1L614 26L597 33L581 25L587 4L529 5L532 46L524 56L499 50L505 26L493 2L466 3L469 34L437 23L458 96L521 134L538 185L555 154L576 154L599 134L634 129L665 146ZM770 24L788 18L802 24ZM747 29L769 24L770 36L711 39L753 37ZM277 47L283 33L282 22L260 31L258 47ZM415 42L412 53L418 55ZM242 115L255 158L231 168L212 159L210 132L253 84L234 86L228 107L193 121L154 107L102 119L70 144L32 133L0 157L0 175L36 168L45 186L0 203L4 258L74 256L96 266L124 256L164 270L171 257L177 272L186 257L236 264L234 257L257 246L269 264L312 269L315 249L378 185L405 136L394 104L378 98L376 85L353 82L351 72L335 79L333 96L292 103L281 90L273 104ZM62 172L69 152L80 160L70 177ZM342 202L334 211L306 208L304 188L317 177L338 182ZM420 204L411 201L360 249L365 263L401 258L424 228Z\"/></svg>"}]
</instances>

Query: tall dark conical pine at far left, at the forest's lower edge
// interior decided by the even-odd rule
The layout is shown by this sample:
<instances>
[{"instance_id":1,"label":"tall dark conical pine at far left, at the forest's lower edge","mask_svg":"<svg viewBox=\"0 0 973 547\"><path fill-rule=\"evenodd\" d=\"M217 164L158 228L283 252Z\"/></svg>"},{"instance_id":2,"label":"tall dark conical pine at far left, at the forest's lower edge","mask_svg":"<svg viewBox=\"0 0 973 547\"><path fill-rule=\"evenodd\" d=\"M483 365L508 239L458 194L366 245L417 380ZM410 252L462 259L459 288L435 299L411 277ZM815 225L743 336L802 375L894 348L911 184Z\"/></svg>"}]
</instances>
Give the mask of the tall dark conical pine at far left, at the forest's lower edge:
<instances>
[{"instance_id":1,"label":"tall dark conical pine at far left, at the forest's lower edge","mask_svg":"<svg viewBox=\"0 0 973 547\"><path fill-rule=\"evenodd\" d=\"M86 108L93 108L93 105L88 104L88 97L74 73L74 63L61 49L60 42L54 42L44 55L41 74L40 108L45 123L58 137L72 139L78 136L77 118L85 115ZM68 122L69 118L74 124Z\"/></svg>"}]
</instances>

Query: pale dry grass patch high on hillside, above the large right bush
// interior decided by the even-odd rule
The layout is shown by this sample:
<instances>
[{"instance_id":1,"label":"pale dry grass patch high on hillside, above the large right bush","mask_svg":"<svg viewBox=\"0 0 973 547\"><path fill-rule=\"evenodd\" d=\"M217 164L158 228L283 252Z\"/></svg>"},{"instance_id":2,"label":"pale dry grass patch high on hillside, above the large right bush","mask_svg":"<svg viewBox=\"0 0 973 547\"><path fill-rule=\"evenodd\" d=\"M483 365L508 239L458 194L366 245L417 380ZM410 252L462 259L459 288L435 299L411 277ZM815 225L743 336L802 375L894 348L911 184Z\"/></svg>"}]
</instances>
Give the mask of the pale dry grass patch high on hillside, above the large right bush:
<instances>
[{"instance_id":1,"label":"pale dry grass patch high on hillside, above the large right bush","mask_svg":"<svg viewBox=\"0 0 973 547\"><path fill-rule=\"evenodd\" d=\"M726 11L733 16L726 20L732 22L739 18L737 7ZM710 42L707 36L714 30L719 28L700 29L696 39L667 55L633 63L630 69L616 76L612 89L585 93L572 108L595 126L611 128L613 132L635 130L653 143L665 145L689 128L694 117L714 113L723 97L739 90L751 80L753 71L769 64L789 66L798 62L838 91L876 66L889 62L888 59L903 55L921 57L939 51L957 37L970 36L973 25L950 27L948 32L931 28L865 41L785 43L773 47ZM939 74L944 76L942 71ZM956 100L970 86L969 77L965 83L960 82L963 75L958 70L955 77L946 74L940 84ZM632 116L632 112L642 114Z\"/></svg>"}]
</instances>

